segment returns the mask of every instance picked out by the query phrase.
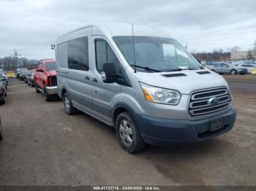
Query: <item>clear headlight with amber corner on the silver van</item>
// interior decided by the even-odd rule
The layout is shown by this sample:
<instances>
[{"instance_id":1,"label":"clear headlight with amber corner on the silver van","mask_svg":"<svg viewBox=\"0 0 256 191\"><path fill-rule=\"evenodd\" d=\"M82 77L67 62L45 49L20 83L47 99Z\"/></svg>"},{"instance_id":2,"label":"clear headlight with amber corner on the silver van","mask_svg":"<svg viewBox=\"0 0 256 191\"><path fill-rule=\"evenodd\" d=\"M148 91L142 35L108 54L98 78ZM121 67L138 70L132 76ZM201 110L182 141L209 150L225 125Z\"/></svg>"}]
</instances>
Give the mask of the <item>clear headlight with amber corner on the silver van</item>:
<instances>
[{"instance_id":1,"label":"clear headlight with amber corner on the silver van","mask_svg":"<svg viewBox=\"0 0 256 191\"><path fill-rule=\"evenodd\" d=\"M181 94L176 90L168 90L160 87L154 87L140 83L146 101L155 102L159 104L176 105L181 99Z\"/></svg>"}]
</instances>

